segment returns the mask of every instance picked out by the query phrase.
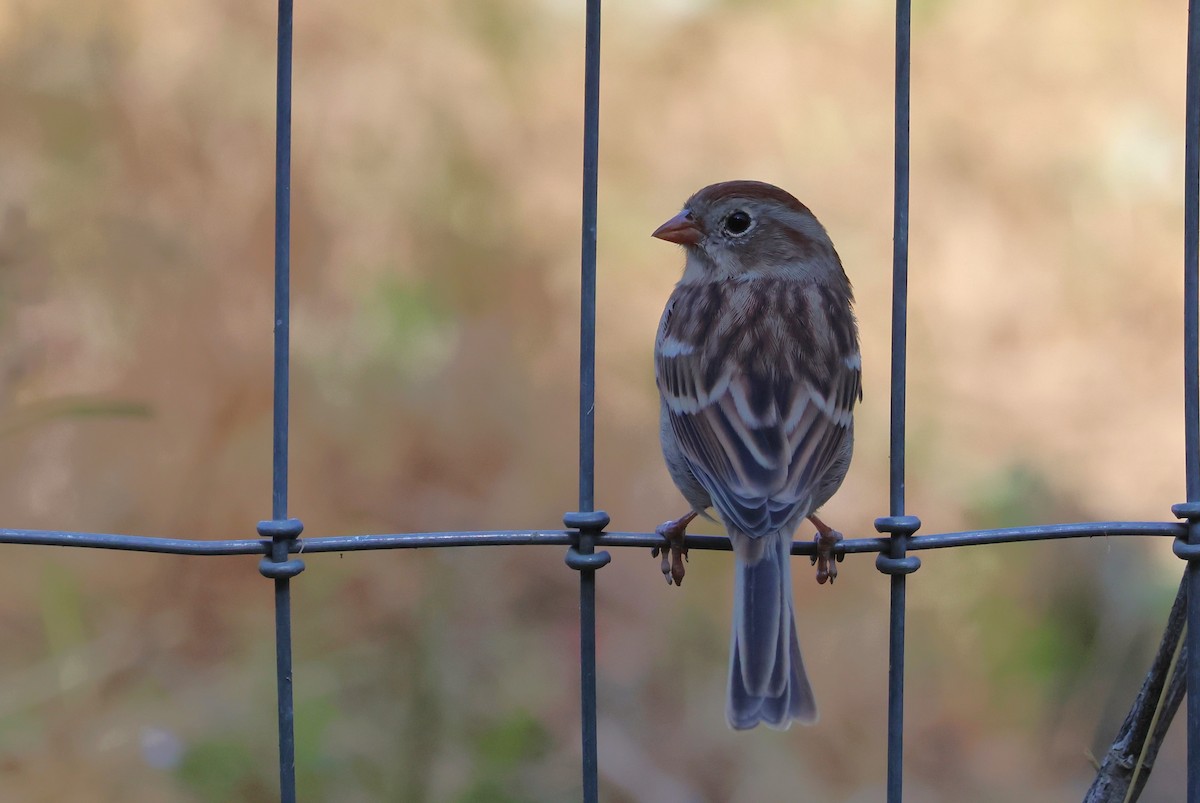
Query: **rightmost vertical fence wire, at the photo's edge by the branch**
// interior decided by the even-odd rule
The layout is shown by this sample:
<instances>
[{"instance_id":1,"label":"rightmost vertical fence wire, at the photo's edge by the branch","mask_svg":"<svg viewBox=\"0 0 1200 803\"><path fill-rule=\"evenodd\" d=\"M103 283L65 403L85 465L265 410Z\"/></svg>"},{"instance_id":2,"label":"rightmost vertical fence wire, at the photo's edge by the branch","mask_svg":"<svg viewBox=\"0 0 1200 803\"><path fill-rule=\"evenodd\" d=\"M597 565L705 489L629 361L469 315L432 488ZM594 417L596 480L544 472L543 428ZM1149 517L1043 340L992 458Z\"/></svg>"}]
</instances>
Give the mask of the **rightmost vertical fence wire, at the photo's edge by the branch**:
<instances>
[{"instance_id":1,"label":"rightmost vertical fence wire, at the photo's edge by the branch","mask_svg":"<svg viewBox=\"0 0 1200 803\"><path fill-rule=\"evenodd\" d=\"M1188 2L1183 158L1183 417L1187 495L1200 502L1200 10ZM1192 519L1188 541L1200 543ZM1188 801L1200 802L1200 561L1188 561Z\"/></svg>"}]
</instances>

